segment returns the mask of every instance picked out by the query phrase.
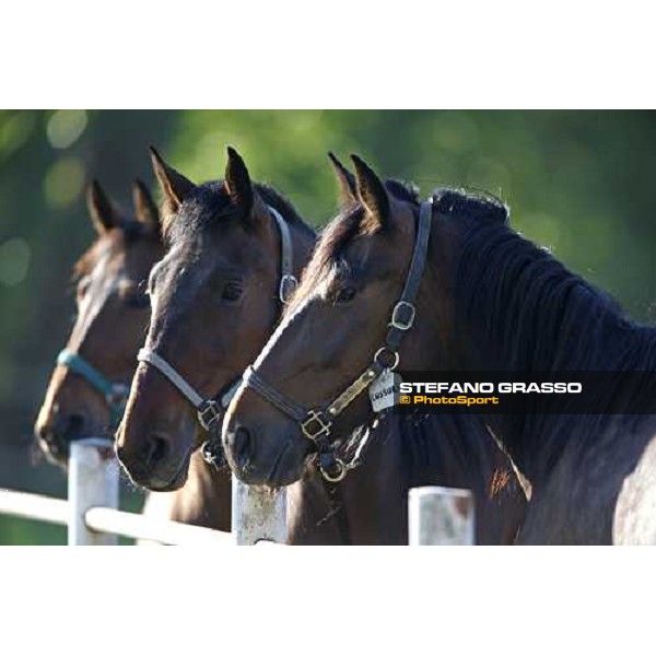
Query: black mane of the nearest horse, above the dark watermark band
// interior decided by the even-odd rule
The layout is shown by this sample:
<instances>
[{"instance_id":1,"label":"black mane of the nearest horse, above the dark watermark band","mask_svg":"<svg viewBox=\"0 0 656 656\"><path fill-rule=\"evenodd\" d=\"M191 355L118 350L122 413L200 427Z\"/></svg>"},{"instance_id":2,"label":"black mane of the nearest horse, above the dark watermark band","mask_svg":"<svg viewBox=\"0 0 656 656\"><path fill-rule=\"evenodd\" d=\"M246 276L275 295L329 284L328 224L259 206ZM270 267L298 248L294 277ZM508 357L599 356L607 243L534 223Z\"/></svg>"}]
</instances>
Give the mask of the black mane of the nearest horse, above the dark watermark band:
<instances>
[{"instance_id":1,"label":"black mane of the nearest horse, above the dark watermark band","mask_svg":"<svg viewBox=\"0 0 656 656\"><path fill-rule=\"evenodd\" d=\"M455 296L457 320L476 324L482 348L497 354L492 366L542 372L656 366L656 330L630 319L608 294L503 224L467 225Z\"/></svg>"}]
</instances>

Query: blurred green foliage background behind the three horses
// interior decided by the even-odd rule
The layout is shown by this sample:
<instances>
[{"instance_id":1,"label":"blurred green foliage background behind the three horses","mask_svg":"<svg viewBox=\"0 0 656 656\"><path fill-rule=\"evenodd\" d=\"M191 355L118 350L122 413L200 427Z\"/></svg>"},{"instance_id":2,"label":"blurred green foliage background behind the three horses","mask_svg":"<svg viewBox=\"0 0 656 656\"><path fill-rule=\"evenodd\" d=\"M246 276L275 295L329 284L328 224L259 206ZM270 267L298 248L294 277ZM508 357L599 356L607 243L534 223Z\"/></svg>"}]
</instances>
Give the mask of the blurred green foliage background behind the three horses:
<instances>
[{"instance_id":1,"label":"blurred green foliage background behind the three horses","mask_svg":"<svg viewBox=\"0 0 656 656\"><path fill-rule=\"evenodd\" d=\"M71 267L94 235L84 187L97 177L129 207L132 176L152 183L150 143L195 181L222 177L232 144L317 225L338 204L328 150L424 194L489 190L517 230L654 320L653 112L0 112L0 487L65 495L32 425L71 327ZM0 516L2 544L65 541Z\"/></svg>"}]
</instances>

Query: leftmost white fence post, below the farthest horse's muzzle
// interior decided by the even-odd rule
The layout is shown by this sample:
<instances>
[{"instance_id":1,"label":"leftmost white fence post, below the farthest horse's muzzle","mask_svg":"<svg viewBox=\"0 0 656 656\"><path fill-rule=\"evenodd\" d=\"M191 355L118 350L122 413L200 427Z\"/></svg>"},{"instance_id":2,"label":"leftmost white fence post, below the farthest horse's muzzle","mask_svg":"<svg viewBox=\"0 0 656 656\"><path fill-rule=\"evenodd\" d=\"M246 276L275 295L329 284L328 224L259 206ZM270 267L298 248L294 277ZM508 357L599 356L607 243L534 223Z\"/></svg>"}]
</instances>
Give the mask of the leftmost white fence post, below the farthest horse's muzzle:
<instances>
[{"instance_id":1,"label":"leftmost white fence post, below the farthest horse's muzzle","mask_svg":"<svg viewBox=\"0 0 656 656\"><path fill-rule=\"evenodd\" d=\"M69 529L68 543L116 544L117 537L90 530L84 522L94 506L118 507L118 465L109 440L89 438L71 443L69 458Z\"/></svg>"}]
</instances>

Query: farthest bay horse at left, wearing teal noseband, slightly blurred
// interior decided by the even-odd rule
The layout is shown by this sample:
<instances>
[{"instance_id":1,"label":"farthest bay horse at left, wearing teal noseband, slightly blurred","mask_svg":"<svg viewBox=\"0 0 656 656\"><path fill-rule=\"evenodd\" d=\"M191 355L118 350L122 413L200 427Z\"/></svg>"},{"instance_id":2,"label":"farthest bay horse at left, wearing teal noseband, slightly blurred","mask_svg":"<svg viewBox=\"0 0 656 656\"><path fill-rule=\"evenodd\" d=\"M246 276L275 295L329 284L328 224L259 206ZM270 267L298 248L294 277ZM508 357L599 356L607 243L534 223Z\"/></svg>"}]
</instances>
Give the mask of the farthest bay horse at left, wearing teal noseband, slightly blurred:
<instances>
[{"instance_id":1,"label":"farthest bay horse at left, wearing teal noseband, slightly blurred","mask_svg":"<svg viewBox=\"0 0 656 656\"><path fill-rule=\"evenodd\" d=\"M94 181L89 212L97 233L74 268L78 316L52 372L35 433L42 448L66 465L69 444L86 436L114 437L137 352L150 316L144 281L164 255L156 206L132 186L134 214L127 215ZM230 476L195 458L189 483L171 494L150 494L149 515L230 530L230 508L212 503L230 493Z\"/></svg>"}]
</instances>

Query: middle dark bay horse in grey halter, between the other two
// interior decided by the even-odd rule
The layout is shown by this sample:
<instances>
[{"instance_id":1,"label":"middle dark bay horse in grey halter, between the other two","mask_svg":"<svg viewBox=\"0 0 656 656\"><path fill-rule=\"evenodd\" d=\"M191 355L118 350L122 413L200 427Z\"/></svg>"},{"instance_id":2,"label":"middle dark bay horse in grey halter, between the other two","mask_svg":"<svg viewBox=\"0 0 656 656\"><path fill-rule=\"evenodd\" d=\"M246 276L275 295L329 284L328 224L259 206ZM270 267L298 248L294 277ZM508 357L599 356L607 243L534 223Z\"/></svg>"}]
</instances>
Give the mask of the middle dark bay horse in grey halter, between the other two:
<instances>
[{"instance_id":1,"label":"middle dark bay horse in grey halter, between the other two","mask_svg":"<svg viewBox=\"0 0 656 656\"><path fill-rule=\"evenodd\" d=\"M352 195L351 174L333 164L342 188ZM315 234L278 192L250 181L233 150L221 181L195 185L160 159L155 173L165 195L168 251L150 277L153 315L145 349L201 397L215 398L257 355L282 309L277 293L281 236L270 208L289 225L296 274ZM399 184L390 188L411 197ZM198 431L194 406L161 367L140 364L117 453L134 482L171 490L185 482L189 459L207 435ZM480 542L511 542L526 502L507 458L482 422L476 429L469 422L470 430L464 431L447 421L380 422L372 427L366 464L337 485L311 468L290 490L290 541L407 543L408 488L442 483L476 490ZM436 430L443 437L427 440Z\"/></svg>"}]
</instances>

